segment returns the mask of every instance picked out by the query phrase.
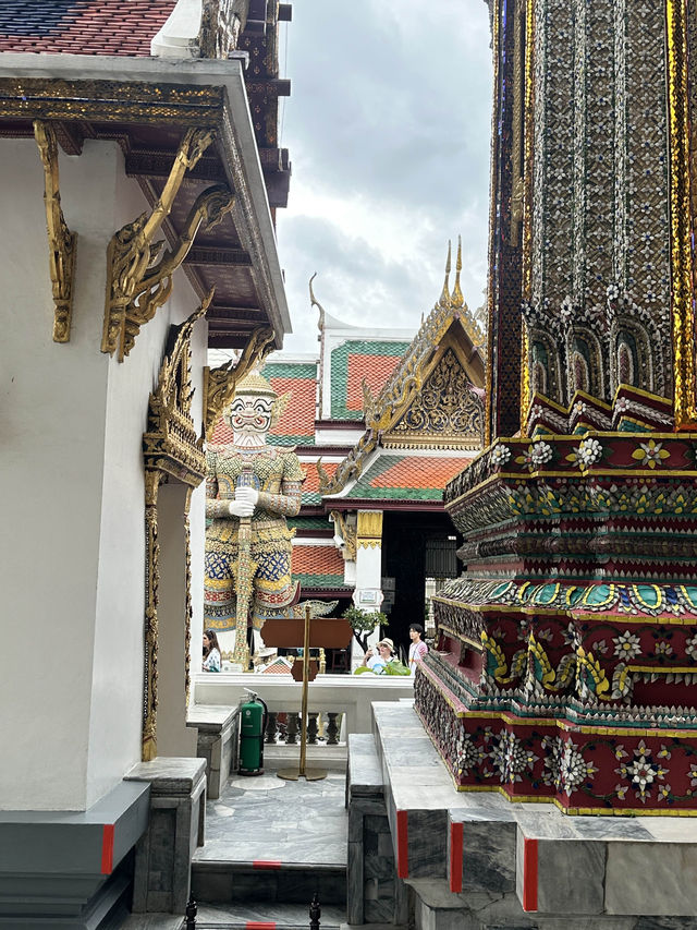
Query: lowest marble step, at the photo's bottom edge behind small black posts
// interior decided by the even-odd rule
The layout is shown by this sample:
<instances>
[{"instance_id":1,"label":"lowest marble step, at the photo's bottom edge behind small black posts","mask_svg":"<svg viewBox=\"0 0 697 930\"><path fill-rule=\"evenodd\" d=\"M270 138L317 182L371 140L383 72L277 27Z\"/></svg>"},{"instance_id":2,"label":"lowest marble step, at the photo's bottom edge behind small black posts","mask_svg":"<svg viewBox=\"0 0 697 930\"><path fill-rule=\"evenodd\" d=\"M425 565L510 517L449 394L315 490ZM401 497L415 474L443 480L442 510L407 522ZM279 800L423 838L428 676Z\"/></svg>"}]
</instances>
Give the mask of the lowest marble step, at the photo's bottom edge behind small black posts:
<instances>
[{"instance_id":1,"label":"lowest marble step, at the photo's bottom edge behind small black posts","mask_svg":"<svg viewBox=\"0 0 697 930\"><path fill-rule=\"evenodd\" d=\"M320 930L339 930L345 923L344 907L322 905ZM273 904L266 901L245 905L201 903L196 930L308 930L309 903Z\"/></svg>"}]
</instances>

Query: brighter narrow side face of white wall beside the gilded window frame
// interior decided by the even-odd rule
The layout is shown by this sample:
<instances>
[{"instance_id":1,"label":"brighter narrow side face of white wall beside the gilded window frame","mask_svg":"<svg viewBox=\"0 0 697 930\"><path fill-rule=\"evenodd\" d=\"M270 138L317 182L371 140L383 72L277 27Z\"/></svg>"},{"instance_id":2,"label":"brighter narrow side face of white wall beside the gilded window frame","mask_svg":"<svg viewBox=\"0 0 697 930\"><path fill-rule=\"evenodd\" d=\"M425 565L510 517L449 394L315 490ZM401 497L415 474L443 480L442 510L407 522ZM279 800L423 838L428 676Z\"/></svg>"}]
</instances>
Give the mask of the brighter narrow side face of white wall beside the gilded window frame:
<instances>
[{"instance_id":1,"label":"brighter narrow side face of white wall beside the gilded window frame","mask_svg":"<svg viewBox=\"0 0 697 930\"><path fill-rule=\"evenodd\" d=\"M115 176L117 217L113 229L131 222L148 208L137 184L125 178L120 152L118 158L121 167ZM114 358L109 363L88 804L112 788L129 769L140 761L146 560L142 437L147 427L149 394L157 385L169 327L182 323L198 304L185 275L178 273L172 299L140 329L125 361L119 363ZM192 371L197 373L198 397L193 412L194 422L200 423L200 382L205 363L200 346L206 341L206 324L201 322L196 329L199 330L199 351L192 360ZM184 486L179 491L183 497ZM164 534L170 529L176 534L173 544L180 549L182 572L183 526L182 506L176 530L164 528ZM166 540L160 535L160 545L164 544ZM182 573L176 579L168 572L162 580L160 597L167 606L169 585L183 585L184 577ZM176 623L183 630L183 609ZM158 668L167 683L170 663L176 661L172 655L174 645L170 645L167 638L167 627L162 630L161 640ZM183 632L179 647L183 649ZM182 661L180 653L180 664Z\"/></svg>"}]
</instances>

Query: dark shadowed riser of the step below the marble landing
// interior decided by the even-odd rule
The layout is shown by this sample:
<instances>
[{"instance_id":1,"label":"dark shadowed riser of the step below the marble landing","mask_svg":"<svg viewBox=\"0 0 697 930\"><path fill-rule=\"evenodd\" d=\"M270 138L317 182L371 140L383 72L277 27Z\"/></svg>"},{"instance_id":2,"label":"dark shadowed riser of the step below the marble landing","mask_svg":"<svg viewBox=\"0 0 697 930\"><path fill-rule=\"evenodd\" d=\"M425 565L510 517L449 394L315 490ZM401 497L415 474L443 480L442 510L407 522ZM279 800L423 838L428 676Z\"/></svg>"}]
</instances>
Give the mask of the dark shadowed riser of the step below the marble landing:
<instances>
[{"instance_id":1,"label":"dark shadowed riser of the step below the marble landing","mask_svg":"<svg viewBox=\"0 0 697 930\"><path fill-rule=\"evenodd\" d=\"M317 862L192 863L192 894L208 903L267 902L309 907L317 893L322 907L345 908L346 867ZM304 925L305 926L305 925Z\"/></svg>"}]
</instances>

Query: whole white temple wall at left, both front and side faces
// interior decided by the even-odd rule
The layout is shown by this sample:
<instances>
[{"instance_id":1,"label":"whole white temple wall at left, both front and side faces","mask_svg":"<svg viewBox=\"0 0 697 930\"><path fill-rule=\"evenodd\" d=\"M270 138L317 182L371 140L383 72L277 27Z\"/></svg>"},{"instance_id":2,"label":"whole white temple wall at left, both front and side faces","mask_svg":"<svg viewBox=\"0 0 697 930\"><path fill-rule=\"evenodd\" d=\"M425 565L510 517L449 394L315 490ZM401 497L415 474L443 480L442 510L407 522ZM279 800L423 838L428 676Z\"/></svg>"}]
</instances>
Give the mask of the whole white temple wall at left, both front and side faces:
<instances>
[{"instance_id":1,"label":"whole white temple wall at left, both front and side faces","mask_svg":"<svg viewBox=\"0 0 697 930\"><path fill-rule=\"evenodd\" d=\"M144 327L126 361L100 352L107 243L147 204L125 178L118 146L87 141L80 157L60 154L63 212L78 243L71 339L53 342L36 143L3 141L0 169L3 519L12 528L0 560L0 808L82 810L140 758L142 434L169 324L198 301L178 275L176 300ZM194 420L200 423L206 324L196 330ZM192 570L198 578L201 510L197 492ZM192 642L200 645L199 632Z\"/></svg>"}]
</instances>

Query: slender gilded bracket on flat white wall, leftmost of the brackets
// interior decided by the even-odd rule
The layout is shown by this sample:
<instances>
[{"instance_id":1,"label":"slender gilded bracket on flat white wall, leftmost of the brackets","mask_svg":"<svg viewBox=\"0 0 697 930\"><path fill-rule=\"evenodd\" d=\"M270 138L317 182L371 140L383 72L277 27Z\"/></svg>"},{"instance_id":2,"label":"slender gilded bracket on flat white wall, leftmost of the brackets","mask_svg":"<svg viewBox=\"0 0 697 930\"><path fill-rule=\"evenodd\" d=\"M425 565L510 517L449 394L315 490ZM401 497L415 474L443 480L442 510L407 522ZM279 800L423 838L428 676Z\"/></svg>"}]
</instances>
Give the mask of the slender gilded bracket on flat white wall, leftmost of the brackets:
<instances>
[{"instance_id":1,"label":"slender gilded bracket on flat white wall, leftmost of the brackets","mask_svg":"<svg viewBox=\"0 0 697 930\"><path fill-rule=\"evenodd\" d=\"M70 322L73 311L73 277L77 233L68 228L61 209L58 180L58 143L50 123L34 121L34 137L44 164L44 203L48 229L49 273L53 290L53 341L70 341Z\"/></svg>"}]
</instances>

